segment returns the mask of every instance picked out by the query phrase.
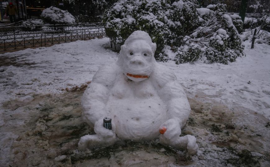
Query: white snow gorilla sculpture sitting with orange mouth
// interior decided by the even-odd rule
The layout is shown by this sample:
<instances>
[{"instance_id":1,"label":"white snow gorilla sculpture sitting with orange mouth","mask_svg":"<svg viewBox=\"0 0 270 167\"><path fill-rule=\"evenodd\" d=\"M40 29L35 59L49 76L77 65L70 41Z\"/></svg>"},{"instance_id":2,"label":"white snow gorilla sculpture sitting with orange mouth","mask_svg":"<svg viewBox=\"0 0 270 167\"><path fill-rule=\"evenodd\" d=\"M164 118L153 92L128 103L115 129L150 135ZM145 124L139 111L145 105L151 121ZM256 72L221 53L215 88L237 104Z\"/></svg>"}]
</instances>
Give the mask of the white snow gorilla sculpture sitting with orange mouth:
<instances>
[{"instance_id":1,"label":"white snow gorilla sculpture sitting with orange mouth","mask_svg":"<svg viewBox=\"0 0 270 167\"><path fill-rule=\"evenodd\" d=\"M106 147L119 139L144 141L159 138L160 143L198 149L196 138L179 137L190 106L176 76L156 63L156 43L144 31L133 32L121 46L117 63L100 68L83 94L83 116L95 125L95 135L81 137L78 146ZM110 116L112 130L103 127Z\"/></svg>"}]
</instances>

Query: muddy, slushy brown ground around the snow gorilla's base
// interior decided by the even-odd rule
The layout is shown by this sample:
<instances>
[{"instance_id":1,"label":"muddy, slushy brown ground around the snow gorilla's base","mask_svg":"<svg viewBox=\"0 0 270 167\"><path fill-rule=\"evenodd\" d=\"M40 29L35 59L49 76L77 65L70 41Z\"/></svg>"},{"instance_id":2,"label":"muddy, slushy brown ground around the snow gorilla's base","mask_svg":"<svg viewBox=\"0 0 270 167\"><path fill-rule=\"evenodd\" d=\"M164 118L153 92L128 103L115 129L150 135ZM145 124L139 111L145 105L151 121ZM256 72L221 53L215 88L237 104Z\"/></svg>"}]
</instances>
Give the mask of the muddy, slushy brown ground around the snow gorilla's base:
<instances>
[{"instance_id":1,"label":"muddy, slushy brown ground around the snow gorilla's base","mask_svg":"<svg viewBox=\"0 0 270 167\"><path fill-rule=\"evenodd\" d=\"M196 99L189 99L192 111L181 134L197 138L199 151L194 156L163 146L158 140L119 141L111 147L78 151L80 137L94 134L81 118L83 91L75 87L63 94L10 101L2 106L5 124L1 131L16 136L7 141L11 147L4 166L269 165L270 134L268 122L261 115Z\"/></svg>"}]
</instances>

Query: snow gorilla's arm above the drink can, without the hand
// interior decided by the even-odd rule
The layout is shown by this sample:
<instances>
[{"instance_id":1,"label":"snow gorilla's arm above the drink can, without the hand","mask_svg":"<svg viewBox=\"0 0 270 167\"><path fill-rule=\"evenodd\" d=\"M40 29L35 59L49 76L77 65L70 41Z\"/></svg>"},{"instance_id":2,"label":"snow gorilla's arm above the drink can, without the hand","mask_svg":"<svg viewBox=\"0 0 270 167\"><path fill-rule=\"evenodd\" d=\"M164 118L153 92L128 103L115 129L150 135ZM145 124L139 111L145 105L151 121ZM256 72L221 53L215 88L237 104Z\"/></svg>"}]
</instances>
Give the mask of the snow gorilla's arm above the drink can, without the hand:
<instances>
[{"instance_id":1,"label":"snow gorilla's arm above the drink can, without the hand","mask_svg":"<svg viewBox=\"0 0 270 167\"><path fill-rule=\"evenodd\" d=\"M96 121L109 115L108 111L105 110L105 102L109 95L109 89L115 81L117 69L116 64L101 67L83 93L82 115L88 124L94 125Z\"/></svg>"}]
</instances>

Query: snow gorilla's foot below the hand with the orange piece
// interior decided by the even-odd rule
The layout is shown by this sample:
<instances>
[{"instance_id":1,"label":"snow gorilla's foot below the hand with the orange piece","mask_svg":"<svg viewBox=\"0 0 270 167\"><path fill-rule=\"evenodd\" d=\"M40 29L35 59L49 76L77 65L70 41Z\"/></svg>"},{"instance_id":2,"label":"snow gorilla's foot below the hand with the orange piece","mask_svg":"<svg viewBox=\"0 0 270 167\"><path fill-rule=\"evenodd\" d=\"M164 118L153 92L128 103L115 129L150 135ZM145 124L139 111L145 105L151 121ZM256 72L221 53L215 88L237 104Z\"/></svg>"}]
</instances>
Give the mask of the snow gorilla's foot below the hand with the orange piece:
<instances>
[{"instance_id":1,"label":"snow gorilla's foot below the hand with the orange piece","mask_svg":"<svg viewBox=\"0 0 270 167\"><path fill-rule=\"evenodd\" d=\"M165 138L163 135L161 135L160 143L169 145L176 149L186 149L190 155L196 154L198 150L196 138L189 134L183 137L177 137L175 140L170 140L170 138Z\"/></svg>"}]
</instances>

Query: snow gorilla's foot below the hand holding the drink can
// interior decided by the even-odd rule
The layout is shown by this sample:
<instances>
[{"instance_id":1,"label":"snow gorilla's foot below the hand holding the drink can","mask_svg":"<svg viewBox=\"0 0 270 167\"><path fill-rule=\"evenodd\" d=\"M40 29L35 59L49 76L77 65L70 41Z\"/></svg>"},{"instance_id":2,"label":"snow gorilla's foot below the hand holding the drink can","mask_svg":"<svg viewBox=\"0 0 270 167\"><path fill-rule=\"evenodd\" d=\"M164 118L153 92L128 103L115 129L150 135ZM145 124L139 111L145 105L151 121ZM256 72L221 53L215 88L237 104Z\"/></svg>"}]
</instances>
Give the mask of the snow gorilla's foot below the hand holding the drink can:
<instances>
[{"instance_id":1,"label":"snow gorilla's foot below the hand holding the drink can","mask_svg":"<svg viewBox=\"0 0 270 167\"><path fill-rule=\"evenodd\" d=\"M115 143L116 137L104 138L98 134L95 135L85 135L81 137L78 147L79 150L85 151L88 149L98 148L98 147L108 147Z\"/></svg>"}]
</instances>

